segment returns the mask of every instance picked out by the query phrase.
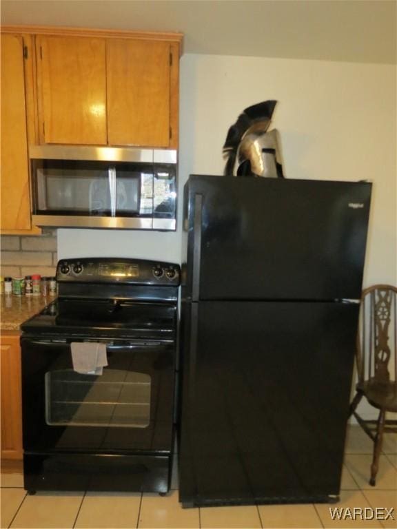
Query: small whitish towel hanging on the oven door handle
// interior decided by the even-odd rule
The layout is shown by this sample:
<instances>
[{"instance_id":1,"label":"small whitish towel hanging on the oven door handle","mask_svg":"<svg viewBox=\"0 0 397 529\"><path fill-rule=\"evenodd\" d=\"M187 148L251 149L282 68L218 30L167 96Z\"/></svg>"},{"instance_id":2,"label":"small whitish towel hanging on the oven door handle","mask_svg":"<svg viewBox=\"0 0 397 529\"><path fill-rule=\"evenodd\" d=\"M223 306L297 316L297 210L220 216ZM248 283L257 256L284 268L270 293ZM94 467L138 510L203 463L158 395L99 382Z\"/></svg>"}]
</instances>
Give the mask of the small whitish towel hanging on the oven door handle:
<instances>
[{"instance_id":1,"label":"small whitish towel hanging on the oven door handle","mask_svg":"<svg viewBox=\"0 0 397 529\"><path fill-rule=\"evenodd\" d=\"M73 369L81 375L102 375L108 365L106 344L97 342L71 342Z\"/></svg>"}]
</instances>

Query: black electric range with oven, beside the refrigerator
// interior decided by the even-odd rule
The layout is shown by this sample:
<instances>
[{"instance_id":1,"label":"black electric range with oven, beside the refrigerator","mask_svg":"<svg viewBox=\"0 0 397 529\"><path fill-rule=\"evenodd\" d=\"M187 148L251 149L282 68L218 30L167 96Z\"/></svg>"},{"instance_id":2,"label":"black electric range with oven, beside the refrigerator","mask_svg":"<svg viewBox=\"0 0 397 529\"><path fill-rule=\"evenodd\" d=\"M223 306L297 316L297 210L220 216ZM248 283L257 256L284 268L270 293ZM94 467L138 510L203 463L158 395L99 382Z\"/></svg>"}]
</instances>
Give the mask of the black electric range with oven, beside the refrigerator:
<instances>
[{"instance_id":1,"label":"black electric range with oven, beside the refrigerator","mask_svg":"<svg viewBox=\"0 0 397 529\"><path fill-rule=\"evenodd\" d=\"M21 326L25 488L167 492L179 266L68 259L57 280L57 300ZM105 344L102 374L76 366L87 344Z\"/></svg>"}]
</instances>

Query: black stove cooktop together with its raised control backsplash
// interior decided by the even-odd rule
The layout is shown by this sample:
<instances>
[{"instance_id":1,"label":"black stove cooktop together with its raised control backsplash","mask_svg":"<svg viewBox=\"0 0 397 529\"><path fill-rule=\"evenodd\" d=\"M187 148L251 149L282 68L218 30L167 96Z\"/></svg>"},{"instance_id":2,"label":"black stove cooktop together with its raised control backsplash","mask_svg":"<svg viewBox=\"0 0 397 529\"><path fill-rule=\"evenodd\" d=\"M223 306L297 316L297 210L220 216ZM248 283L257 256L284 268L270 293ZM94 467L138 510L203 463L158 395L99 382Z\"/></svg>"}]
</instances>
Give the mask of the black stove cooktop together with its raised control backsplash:
<instances>
[{"instance_id":1,"label":"black stove cooktop together with its raised control backsplash","mask_svg":"<svg viewBox=\"0 0 397 529\"><path fill-rule=\"evenodd\" d=\"M21 325L31 335L174 340L181 269L127 258L61 259L59 298Z\"/></svg>"}]
</instances>

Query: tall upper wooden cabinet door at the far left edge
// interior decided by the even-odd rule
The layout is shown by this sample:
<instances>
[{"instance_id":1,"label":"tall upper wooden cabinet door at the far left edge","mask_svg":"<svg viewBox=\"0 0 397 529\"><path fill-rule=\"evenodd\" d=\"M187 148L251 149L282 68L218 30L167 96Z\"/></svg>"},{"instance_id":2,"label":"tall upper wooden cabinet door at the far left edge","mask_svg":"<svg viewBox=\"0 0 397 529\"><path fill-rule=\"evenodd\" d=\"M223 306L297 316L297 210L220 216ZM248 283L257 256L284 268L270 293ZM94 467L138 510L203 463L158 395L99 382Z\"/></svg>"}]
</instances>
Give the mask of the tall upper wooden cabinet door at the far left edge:
<instances>
[{"instance_id":1,"label":"tall upper wooden cabinet door at the far left edge","mask_svg":"<svg viewBox=\"0 0 397 529\"><path fill-rule=\"evenodd\" d=\"M23 38L1 34L1 229L30 229Z\"/></svg>"}]
</instances>

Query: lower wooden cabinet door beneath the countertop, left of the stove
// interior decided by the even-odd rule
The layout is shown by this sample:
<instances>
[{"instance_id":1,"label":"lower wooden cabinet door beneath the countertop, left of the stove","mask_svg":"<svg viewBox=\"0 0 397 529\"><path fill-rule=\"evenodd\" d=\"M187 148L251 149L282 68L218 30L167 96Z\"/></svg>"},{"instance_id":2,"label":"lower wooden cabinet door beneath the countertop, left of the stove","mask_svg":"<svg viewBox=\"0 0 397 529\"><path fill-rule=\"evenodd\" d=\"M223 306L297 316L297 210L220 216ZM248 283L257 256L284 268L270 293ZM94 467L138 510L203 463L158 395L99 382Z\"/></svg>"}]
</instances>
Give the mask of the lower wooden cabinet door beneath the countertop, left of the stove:
<instances>
[{"instance_id":1,"label":"lower wooden cabinet door beneath the countertop, left of the stove","mask_svg":"<svg viewBox=\"0 0 397 529\"><path fill-rule=\"evenodd\" d=\"M19 335L2 336L1 457L22 459L21 348Z\"/></svg>"}]
</instances>

